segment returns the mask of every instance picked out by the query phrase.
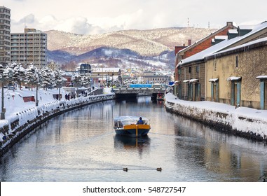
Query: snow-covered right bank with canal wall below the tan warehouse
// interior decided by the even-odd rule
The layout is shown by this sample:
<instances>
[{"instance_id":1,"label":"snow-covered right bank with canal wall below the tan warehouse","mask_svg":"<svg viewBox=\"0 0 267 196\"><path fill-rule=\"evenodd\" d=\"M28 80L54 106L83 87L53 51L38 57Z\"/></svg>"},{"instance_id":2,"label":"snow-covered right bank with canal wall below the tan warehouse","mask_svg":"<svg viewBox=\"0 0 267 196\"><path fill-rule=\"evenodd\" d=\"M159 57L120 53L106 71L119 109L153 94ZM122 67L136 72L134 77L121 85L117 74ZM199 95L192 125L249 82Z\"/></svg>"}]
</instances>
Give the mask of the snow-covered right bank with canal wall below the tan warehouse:
<instances>
[{"instance_id":1,"label":"snow-covered right bank with canal wall below the tan warehouse","mask_svg":"<svg viewBox=\"0 0 267 196\"><path fill-rule=\"evenodd\" d=\"M168 111L201 123L218 127L221 130L267 141L267 111L249 109L217 102L189 102L178 99L174 94L165 95Z\"/></svg>"}]
</instances>

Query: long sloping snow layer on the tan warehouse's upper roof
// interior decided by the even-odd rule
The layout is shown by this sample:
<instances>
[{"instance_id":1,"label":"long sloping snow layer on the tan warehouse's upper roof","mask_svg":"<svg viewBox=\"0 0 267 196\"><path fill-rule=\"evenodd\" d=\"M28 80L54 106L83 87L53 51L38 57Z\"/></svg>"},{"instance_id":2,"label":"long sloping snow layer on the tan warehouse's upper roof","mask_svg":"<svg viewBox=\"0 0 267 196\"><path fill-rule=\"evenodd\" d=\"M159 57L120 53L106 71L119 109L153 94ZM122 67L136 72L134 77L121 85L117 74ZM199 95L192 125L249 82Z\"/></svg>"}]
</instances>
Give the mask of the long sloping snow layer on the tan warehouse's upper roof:
<instances>
[{"instance_id":1,"label":"long sloping snow layer on the tan warehouse's upper roof","mask_svg":"<svg viewBox=\"0 0 267 196\"><path fill-rule=\"evenodd\" d=\"M224 48L228 48L229 46L233 45L234 43L237 43L238 41L242 41L243 39L256 34L256 32L261 31L262 29L267 28L267 22L263 22L259 25L255 25L254 29L250 31L249 33L245 34L244 36L238 36L235 38L231 38L229 40L221 41L220 43L217 43L216 45L212 45L210 48L207 48L206 50L203 50L201 52L196 53L196 55L192 55L191 57L188 57L186 59L182 59L177 66L180 66L182 64L186 64L189 62L194 62L198 60L203 60L205 57L214 54L215 52L219 52L221 50L224 50Z\"/></svg>"}]
</instances>

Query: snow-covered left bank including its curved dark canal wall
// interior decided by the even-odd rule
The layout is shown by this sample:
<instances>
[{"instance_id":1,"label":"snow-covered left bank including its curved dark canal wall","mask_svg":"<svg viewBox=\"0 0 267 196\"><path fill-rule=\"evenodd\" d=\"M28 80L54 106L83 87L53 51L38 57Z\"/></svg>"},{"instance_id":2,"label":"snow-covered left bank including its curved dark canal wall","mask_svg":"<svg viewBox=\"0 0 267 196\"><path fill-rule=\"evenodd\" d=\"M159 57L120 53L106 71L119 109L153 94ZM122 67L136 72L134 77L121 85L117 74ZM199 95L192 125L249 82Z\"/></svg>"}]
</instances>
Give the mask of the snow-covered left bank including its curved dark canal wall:
<instances>
[{"instance_id":1,"label":"snow-covered left bank including its curved dark canal wall","mask_svg":"<svg viewBox=\"0 0 267 196\"><path fill-rule=\"evenodd\" d=\"M64 95L69 92L62 89L60 93L63 97L58 101L55 99L57 93L58 90L39 90L39 106L35 106L35 102L23 101L23 97L34 96L36 99L35 90L23 89L14 92L13 90L5 90L6 120L0 120L0 156L25 134L46 120L60 113L115 97L115 94L111 93L110 90L104 90L104 94L80 96L68 100L64 98Z\"/></svg>"}]
</instances>

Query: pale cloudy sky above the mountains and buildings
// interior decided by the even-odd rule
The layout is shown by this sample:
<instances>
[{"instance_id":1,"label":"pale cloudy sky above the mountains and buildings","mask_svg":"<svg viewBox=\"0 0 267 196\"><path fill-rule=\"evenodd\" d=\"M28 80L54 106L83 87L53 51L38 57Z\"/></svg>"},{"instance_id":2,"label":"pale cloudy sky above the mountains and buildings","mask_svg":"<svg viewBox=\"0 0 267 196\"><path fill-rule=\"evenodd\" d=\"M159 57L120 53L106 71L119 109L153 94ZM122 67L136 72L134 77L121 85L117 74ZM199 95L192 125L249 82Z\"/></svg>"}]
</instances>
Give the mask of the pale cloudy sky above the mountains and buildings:
<instances>
[{"instance_id":1,"label":"pale cloudy sky above the mountains and buildings","mask_svg":"<svg viewBox=\"0 0 267 196\"><path fill-rule=\"evenodd\" d=\"M26 27L76 34L125 29L224 27L267 20L266 0L1 0L11 9L11 32Z\"/></svg>"}]
</instances>

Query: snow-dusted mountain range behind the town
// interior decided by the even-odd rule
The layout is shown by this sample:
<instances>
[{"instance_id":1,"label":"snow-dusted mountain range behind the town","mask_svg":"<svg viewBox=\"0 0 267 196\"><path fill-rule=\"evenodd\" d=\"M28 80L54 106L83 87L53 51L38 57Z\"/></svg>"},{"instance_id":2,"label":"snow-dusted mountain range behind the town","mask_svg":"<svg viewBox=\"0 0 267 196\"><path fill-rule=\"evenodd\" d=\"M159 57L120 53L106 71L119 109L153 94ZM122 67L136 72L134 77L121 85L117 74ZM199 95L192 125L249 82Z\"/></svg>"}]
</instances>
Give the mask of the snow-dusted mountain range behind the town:
<instances>
[{"instance_id":1,"label":"snow-dusted mountain range behind the town","mask_svg":"<svg viewBox=\"0 0 267 196\"><path fill-rule=\"evenodd\" d=\"M46 31L48 61L62 64L69 70L79 62L173 69L174 46L188 45L189 39L194 43L213 31L216 29L172 27L82 35L51 30Z\"/></svg>"}]
</instances>

